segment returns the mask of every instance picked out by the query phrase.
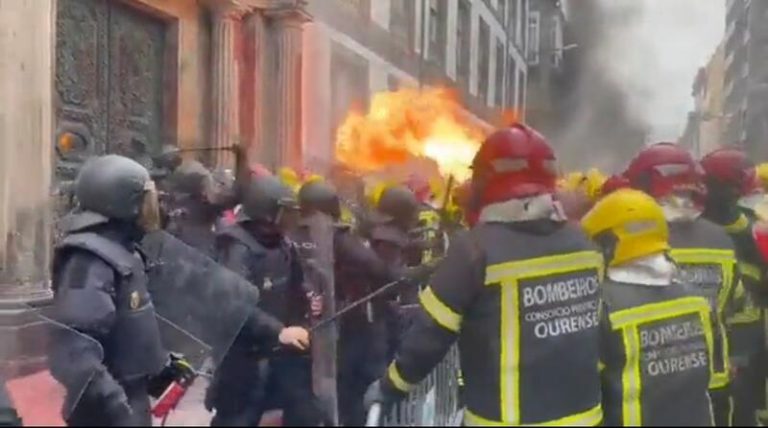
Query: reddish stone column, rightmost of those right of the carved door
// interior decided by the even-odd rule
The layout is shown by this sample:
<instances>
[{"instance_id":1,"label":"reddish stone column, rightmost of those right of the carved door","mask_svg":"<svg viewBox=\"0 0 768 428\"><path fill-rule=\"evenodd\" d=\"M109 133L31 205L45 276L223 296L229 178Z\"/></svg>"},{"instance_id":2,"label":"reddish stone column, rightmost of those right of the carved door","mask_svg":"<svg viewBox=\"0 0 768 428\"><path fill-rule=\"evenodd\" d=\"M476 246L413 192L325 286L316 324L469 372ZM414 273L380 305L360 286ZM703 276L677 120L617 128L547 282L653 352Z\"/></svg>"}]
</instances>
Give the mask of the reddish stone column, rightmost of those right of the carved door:
<instances>
[{"instance_id":1,"label":"reddish stone column, rightmost of those right of the carved door","mask_svg":"<svg viewBox=\"0 0 768 428\"><path fill-rule=\"evenodd\" d=\"M308 16L299 8L272 12L275 57L275 97L277 113L275 140L278 165L300 167L301 153L301 59L302 26Z\"/></svg>"}]
</instances>

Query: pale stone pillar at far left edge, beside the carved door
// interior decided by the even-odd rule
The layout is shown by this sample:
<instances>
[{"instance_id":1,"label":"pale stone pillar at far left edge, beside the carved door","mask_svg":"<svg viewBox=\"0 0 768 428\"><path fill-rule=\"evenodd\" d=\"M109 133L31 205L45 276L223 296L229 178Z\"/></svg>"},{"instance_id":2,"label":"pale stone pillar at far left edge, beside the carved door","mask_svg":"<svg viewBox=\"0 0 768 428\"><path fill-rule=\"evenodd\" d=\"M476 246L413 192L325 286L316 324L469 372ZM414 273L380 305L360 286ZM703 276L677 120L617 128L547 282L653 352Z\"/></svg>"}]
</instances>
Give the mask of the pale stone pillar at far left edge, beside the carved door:
<instances>
[{"instance_id":1,"label":"pale stone pillar at far left edge, beside the carved door","mask_svg":"<svg viewBox=\"0 0 768 428\"><path fill-rule=\"evenodd\" d=\"M55 28L53 0L0 1L0 315L50 296Z\"/></svg>"}]
</instances>

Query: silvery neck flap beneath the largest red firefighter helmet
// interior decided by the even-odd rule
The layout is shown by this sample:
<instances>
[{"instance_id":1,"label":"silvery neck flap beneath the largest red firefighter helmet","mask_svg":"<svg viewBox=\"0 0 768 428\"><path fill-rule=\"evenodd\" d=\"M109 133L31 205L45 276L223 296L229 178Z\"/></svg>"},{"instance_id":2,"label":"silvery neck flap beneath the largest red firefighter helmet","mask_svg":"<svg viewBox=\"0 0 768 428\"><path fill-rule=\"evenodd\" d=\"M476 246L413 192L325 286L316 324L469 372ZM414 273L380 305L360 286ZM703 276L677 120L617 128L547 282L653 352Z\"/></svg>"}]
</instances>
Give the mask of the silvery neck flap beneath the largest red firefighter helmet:
<instances>
[{"instance_id":1,"label":"silvery neck flap beneath the largest red firefighter helmet","mask_svg":"<svg viewBox=\"0 0 768 428\"><path fill-rule=\"evenodd\" d=\"M551 194L510 199L486 205L480 211L479 221L481 223L515 223L543 219L553 221L566 219L562 205Z\"/></svg>"}]
</instances>

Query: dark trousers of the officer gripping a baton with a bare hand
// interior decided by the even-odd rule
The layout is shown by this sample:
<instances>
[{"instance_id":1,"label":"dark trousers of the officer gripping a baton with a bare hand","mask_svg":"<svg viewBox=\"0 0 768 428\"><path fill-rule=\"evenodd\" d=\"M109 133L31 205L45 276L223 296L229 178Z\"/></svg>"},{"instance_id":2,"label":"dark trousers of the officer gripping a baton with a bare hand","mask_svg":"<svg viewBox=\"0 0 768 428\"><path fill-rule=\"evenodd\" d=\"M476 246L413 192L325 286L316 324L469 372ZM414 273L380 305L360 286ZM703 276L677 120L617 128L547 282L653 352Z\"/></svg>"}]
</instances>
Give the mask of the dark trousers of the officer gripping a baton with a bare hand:
<instances>
[{"instance_id":1,"label":"dark trousers of the officer gripping a baton with a bare hand","mask_svg":"<svg viewBox=\"0 0 768 428\"><path fill-rule=\"evenodd\" d=\"M212 399L216 415L211 426L258 426L264 412L283 410L283 426L320 426L325 417L312 392L312 364L306 356L286 355L265 361L257 376L244 374L242 382L235 379L218 382Z\"/></svg>"}]
</instances>

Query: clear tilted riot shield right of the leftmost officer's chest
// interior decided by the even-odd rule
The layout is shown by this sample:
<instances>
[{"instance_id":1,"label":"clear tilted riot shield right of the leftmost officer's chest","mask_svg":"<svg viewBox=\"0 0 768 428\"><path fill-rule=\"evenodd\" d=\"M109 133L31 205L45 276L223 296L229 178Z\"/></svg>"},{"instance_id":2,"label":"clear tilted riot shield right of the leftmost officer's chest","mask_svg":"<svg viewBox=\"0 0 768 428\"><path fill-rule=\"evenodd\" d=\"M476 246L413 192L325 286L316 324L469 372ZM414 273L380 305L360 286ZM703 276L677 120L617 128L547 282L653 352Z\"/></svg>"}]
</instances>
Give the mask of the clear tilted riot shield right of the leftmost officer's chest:
<instances>
[{"instance_id":1,"label":"clear tilted riot shield right of the leftmost officer's chest","mask_svg":"<svg viewBox=\"0 0 768 428\"><path fill-rule=\"evenodd\" d=\"M142 242L149 292L164 345L196 367L217 366L258 304L258 289L240 275L158 231Z\"/></svg>"}]
</instances>

